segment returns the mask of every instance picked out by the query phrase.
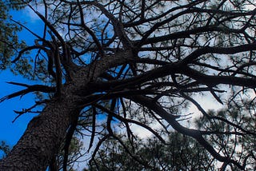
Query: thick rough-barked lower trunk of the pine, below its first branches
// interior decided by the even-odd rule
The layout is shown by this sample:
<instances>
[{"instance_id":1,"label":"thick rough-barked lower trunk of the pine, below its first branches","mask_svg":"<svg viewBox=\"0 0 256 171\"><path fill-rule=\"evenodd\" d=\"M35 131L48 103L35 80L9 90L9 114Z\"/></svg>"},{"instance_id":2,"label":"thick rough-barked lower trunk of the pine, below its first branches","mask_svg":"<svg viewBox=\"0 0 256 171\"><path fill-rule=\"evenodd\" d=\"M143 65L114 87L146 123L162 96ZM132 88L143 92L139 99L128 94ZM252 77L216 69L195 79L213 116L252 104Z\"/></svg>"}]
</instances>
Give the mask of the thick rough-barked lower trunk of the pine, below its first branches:
<instances>
[{"instance_id":1,"label":"thick rough-barked lower trunk of the pine, below its first branches","mask_svg":"<svg viewBox=\"0 0 256 171\"><path fill-rule=\"evenodd\" d=\"M46 105L42 113L30 121L10 155L0 162L0 170L46 170L79 112L75 106L68 98Z\"/></svg>"}]
</instances>

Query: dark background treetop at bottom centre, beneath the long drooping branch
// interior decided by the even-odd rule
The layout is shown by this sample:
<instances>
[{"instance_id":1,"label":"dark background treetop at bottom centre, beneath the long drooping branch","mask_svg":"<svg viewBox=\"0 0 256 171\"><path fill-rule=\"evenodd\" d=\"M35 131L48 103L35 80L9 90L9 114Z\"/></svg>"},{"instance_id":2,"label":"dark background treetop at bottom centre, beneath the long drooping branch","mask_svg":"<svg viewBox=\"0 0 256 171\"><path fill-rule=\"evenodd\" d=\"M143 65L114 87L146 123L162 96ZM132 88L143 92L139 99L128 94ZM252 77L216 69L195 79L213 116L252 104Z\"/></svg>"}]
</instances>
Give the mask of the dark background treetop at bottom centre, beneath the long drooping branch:
<instances>
[{"instance_id":1,"label":"dark background treetop at bottom centre, beneath the long drooping branch","mask_svg":"<svg viewBox=\"0 0 256 171\"><path fill-rule=\"evenodd\" d=\"M90 165L84 170L215 170L216 161L210 157L197 141L181 133L170 133L163 145L157 138L150 137L130 144L127 149L118 141L105 141Z\"/></svg>"}]
</instances>

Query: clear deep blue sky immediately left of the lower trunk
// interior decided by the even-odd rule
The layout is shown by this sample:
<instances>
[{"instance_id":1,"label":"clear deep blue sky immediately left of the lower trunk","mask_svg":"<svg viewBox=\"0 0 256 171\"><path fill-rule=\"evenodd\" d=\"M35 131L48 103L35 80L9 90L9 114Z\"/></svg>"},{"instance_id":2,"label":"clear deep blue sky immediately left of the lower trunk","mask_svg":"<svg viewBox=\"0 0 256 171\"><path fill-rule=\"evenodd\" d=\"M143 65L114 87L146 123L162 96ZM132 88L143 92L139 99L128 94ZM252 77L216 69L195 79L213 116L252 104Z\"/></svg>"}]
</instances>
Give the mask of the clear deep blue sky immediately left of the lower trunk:
<instances>
[{"instance_id":1,"label":"clear deep blue sky immediately left of the lower trunk","mask_svg":"<svg viewBox=\"0 0 256 171\"><path fill-rule=\"evenodd\" d=\"M21 87L7 84L6 82L27 82L21 76L14 76L10 71L6 70L0 74L0 87L2 91L0 92L0 97L4 97L10 93L14 93ZM29 94L22 98L15 97L8 101L3 101L0 103L0 129L2 133L0 134L0 141L6 141L9 145L14 145L21 137L22 133L26 129L28 121L34 114L26 114L19 117L17 121L12 123L14 118L17 116L14 110L22 110L23 108L30 107L33 105L33 95Z\"/></svg>"}]
</instances>

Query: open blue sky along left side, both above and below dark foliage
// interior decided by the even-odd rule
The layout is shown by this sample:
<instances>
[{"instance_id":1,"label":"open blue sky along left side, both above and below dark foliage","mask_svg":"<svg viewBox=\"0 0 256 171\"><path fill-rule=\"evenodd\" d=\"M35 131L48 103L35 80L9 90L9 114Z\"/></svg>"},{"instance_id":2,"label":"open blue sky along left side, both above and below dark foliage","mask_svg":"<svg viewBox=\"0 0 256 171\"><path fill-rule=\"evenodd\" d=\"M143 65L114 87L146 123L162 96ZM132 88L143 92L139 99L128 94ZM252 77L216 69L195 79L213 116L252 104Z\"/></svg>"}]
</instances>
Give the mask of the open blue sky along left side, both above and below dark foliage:
<instances>
[{"instance_id":1,"label":"open blue sky along left side, both above and below dark foliage","mask_svg":"<svg viewBox=\"0 0 256 171\"><path fill-rule=\"evenodd\" d=\"M38 20L37 16L33 14L28 8L22 11L12 11L12 15L14 20L20 22L26 22L26 26L31 30L42 34L42 22ZM32 35L26 31L22 30L19 34L19 38L26 41L28 45L34 43L34 38ZM6 82L21 82L26 84L33 84L34 82L29 82L27 79L22 78L20 75L14 75L10 72L10 70L4 70L0 72L0 98L4 97L10 93L14 93L20 89L24 89L23 87L10 85ZM28 94L20 97L15 97L13 99L3 101L0 103L0 141L6 141L8 145L15 145L18 139L22 136L26 129L26 125L30 121L32 117L35 116L33 113L28 113L19 117L14 123L12 121L17 116L14 113L14 110L22 110L29 108L31 105L34 105L34 95ZM1 153L0 153L1 157Z\"/></svg>"}]
</instances>

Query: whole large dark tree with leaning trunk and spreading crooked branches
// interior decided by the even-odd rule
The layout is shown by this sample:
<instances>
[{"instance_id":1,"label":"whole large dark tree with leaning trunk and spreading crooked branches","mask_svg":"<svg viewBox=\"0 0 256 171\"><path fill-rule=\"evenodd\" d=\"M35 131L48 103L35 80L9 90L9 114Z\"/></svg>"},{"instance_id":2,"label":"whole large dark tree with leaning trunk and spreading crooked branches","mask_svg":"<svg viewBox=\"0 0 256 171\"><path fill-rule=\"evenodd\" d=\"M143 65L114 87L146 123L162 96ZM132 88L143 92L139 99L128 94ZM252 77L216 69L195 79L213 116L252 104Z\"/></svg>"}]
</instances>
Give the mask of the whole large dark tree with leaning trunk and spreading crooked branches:
<instances>
[{"instance_id":1,"label":"whole large dark tree with leaning trunk and spreading crooked branches","mask_svg":"<svg viewBox=\"0 0 256 171\"><path fill-rule=\"evenodd\" d=\"M34 45L12 46L17 51L8 62L24 64L23 72L16 70L42 84L9 82L24 89L0 101L34 92L40 94L35 105L17 113L43 109L0 161L0 170L54 168L59 151L66 170L75 133L90 136L93 161L108 139L126 146L128 138L135 145L134 125L163 143L163 133L172 130L192 137L222 169L251 168L254 149L236 142L255 136L247 127L255 120L255 9L253 0L26 2L44 30L11 22L29 30ZM1 55L12 42L8 38L0 38ZM198 97L233 108L228 113L236 117L206 112ZM198 112L188 113L190 106ZM194 118L202 122L195 125Z\"/></svg>"}]
</instances>

